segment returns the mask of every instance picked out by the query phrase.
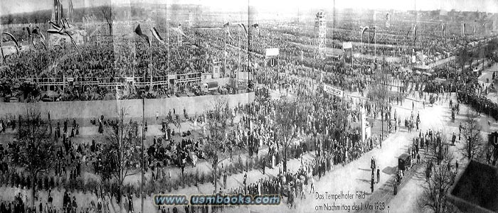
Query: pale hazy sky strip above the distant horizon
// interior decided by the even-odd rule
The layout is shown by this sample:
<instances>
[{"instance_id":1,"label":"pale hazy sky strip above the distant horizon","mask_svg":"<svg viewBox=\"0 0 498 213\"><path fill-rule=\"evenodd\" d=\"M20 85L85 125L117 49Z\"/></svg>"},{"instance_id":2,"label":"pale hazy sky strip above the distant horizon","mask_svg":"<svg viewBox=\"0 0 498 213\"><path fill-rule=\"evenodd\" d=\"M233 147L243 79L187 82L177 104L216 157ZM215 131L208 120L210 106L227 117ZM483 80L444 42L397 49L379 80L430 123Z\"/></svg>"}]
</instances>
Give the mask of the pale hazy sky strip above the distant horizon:
<instances>
[{"instance_id":1,"label":"pale hazy sky strip above the distant horizon","mask_svg":"<svg viewBox=\"0 0 498 213\"><path fill-rule=\"evenodd\" d=\"M69 0L60 0L68 7ZM102 4L129 4L129 2L153 4L201 4L213 9L230 11L247 7L249 4L258 9L287 11L297 8L332 8L334 0L73 0L73 6L100 6ZM436 10L486 11L498 13L498 0L335 0L337 9L395 9L395 10ZM415 2L416 1L416 2ZM415 5L416 4L416 5ZM40 9L51 9L53 0L0 0L0 16L7 13L23 13Z\"/></svg>"}]
</instances>

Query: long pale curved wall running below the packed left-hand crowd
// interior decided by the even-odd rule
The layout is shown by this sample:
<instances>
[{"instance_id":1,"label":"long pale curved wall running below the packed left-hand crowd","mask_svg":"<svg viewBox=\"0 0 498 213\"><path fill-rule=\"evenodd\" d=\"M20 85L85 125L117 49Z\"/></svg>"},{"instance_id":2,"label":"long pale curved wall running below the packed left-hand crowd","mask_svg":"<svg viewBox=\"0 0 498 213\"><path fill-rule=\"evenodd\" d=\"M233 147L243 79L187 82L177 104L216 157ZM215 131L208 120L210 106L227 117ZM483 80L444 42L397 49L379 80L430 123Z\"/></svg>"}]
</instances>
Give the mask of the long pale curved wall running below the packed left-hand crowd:
<instances>
[{"instance_id":1,"label":"long pale curved wall running below the packed left-hand crowd","mask_svg":"<svg viewBox=\"0 0 498 213\"><path fill-rule=\"evenodd\" d=\"M240 94L205 95L196 97L169 97L164 99L127 99L108 101L77 101L77 102L37 102L37 103L6 103L0 102L0 116L26 114L28 109L36 109L43 116L50 112L51 119L97 118L103 115L107 118L116 117L121 109L127 109L127 117L166 116L173 110L176 114L183 115L184 109L188 114L201 114L208 109L213 109L214 103L219 101L228 102L229 107L235 107L239 103L247 104L253 102L254 92ZM143 104L142 104L143 102Z\"/></svg>"}]
</instances>

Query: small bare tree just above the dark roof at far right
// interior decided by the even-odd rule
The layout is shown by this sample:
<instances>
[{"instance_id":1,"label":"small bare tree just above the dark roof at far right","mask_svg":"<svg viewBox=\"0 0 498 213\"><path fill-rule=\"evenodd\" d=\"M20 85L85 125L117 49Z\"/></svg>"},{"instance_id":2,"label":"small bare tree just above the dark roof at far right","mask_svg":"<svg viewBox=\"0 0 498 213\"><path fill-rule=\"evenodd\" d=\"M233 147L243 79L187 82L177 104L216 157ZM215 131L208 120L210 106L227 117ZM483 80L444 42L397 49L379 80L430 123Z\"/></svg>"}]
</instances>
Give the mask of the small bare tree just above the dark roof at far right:
<instances>
[{"instance_id":1,"label":"small bare tree just above the dark roof at far right","mask_svg":"<svg viewBox=\"0 0 498 213\"><path fill-rule=\"evenodd\" d=\"M483 146L481 129L479 121L477 120L477 114L467 111L467 116L462 125L464 144L460 151L469 160L474 158Z\"/></svg>"}]
</instances>

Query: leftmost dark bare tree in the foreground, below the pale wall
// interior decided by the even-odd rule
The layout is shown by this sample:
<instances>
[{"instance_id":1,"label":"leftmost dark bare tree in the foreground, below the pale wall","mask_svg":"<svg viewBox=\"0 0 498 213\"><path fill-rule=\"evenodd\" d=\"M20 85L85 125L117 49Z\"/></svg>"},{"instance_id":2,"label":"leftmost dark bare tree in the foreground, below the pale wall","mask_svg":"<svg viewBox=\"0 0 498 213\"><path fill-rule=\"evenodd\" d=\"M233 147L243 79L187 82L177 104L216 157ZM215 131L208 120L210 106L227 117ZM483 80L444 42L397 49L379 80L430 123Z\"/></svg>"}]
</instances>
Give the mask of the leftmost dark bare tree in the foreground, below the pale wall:
<instances>
[{"instance_id":1,"label":"leftmost dark bare tree in the foreground, below the pale wall","mask_svg":"<svg viewBox=\"0 0 498 213\"><path fill-rule=\"evenodd\" d=\"M14 165L24 168L30 176L31 195L36 192L38 175L46 173L55 160L55 148L51 141L51 128L48 121L41 119L36 109L27 109L19 119L17 142L9 149L9 158ZM34 199L31 200L34 205Z\"/></svg>"}]
</instances>

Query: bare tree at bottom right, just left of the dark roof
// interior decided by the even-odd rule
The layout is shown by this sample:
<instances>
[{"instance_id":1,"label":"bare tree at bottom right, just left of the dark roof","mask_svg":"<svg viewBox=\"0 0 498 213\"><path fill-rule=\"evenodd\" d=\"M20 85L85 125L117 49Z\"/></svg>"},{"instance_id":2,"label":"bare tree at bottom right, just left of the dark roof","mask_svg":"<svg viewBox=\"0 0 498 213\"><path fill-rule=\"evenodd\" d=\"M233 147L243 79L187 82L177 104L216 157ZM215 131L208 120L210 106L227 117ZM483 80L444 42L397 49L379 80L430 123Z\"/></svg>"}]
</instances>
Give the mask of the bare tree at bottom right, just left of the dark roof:
<instances>
[{"instance_id":1,"label":"bare tree at bottom right, just left of the dark roof","mask_svg":"<svg viewBox=\"0 0 498 213\"><path fill-rule=\"evenodd\" d=\"M422 195L418 198L418 205L423 209L430 209L435 213L456 212L450 202L447 202L447 192L450 190L455 181L455 172L452 170L452 155L443 152L443 162L440 165L434 165L432 175L425 183ZM423 211L420 211L423 212Z\"/></svg>"}]
</instances>

